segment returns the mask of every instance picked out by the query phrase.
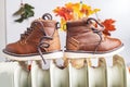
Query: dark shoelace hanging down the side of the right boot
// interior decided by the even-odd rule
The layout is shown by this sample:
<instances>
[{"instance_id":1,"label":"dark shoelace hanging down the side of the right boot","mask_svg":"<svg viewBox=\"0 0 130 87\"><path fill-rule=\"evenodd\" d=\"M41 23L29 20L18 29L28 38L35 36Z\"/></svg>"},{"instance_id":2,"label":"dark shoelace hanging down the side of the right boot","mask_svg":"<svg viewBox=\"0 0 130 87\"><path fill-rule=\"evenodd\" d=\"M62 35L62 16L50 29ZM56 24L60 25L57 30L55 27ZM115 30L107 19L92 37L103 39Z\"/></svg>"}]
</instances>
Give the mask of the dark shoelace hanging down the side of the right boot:
<instances>
[{"instance_id":1,"label":"dark shoelace hanging down the side of the right boot","mask_svg":"<svg viewBox=\"0 0 130 87\"><path fill-rule=\"evenodd\" d=\"M100 26L103 27L103 29L104 29L104 26L103 26L101 23L99 23L95 18L92 18L92 17L90 17L90 18L87 20L87 24L88 24L89 21L91 21L91 20L94 21L98 25L100 25ZM93 33L98 34L99 37L100 37L99 44L95 46L95 49L94 49L94 53L96 53L98 48L99 48L100 44L101 44L102 40L103 40L103 38L102 38L102 32L103 32L103 29L102 29L102 30L99 30L99 29L93 28L93 27L92 27L91 29L92 29Z\"/></svg>"}]
</instances>

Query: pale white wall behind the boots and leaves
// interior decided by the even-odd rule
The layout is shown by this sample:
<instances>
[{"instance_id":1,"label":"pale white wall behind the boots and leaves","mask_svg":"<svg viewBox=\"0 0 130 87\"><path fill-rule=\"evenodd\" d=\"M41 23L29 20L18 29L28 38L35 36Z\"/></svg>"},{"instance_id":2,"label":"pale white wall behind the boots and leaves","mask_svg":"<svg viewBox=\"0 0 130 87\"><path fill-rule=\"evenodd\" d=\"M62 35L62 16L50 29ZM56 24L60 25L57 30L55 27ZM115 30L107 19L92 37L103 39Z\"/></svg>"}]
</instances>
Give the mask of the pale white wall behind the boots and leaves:
<instances>
[{"instance_id":1,"label":"pale white wall behind the boots and leaves","mask_svg":"<svg viewBox=\"0 0 130 87\"><path fill-rule=\"evenodd\" d=\"M52 13L52 10L57 5L63 5L66 2L76 0L24 0L35 7L35 17L31 17L27 21L24 21L22 24L14 23L12 14L20 8L20 1L6 0L6 41L13 42L20 38L20 34L24 33L26 27L29 27L32 20L38 18L46 12ZM77 0L79 1L79 0ZM113 33L113 37L118 37L125 44L125 50L120 53L126 60L127 63L130 62L130 1L129 0L82 0L84 3L92 5L93 8L101 9L99 17L104 18L114 18L116 20L117 30ZM58 20L57 17L54 17ZM62 34L61 34L62 35ZM62 36L62 45L65 45L65 38Z\"/></svg>"}]
</instances>

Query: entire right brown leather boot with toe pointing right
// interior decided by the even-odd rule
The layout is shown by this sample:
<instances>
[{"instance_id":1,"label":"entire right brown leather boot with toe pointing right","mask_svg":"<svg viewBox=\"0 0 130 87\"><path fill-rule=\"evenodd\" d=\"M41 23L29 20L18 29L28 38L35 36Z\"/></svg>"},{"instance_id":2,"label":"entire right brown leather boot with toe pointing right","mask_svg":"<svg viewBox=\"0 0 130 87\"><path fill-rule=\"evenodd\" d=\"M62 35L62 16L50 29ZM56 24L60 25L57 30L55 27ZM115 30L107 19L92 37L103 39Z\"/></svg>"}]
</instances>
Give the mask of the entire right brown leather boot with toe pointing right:
<instances>
[{"instance_id":1,"label":"entire right brown leather boot with toe pointing right","mask_svg":"<svg viewBox=\"0 0 130 87\"><path fill-rule=\"evenodd\" d=\"M122 50L123 44L117 38L105 36L103 29L104 26L92 17L67 22L65 57L107 57Z\"/></svg>"}]
</instances>

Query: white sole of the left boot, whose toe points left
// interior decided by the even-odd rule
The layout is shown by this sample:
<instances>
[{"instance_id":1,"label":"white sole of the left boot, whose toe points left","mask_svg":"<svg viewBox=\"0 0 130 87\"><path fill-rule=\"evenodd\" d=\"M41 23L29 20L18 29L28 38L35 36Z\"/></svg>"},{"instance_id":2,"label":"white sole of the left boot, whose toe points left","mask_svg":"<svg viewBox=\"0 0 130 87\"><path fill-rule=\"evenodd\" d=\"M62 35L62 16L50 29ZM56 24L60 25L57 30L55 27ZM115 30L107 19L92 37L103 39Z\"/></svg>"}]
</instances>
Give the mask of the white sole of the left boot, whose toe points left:
<instances>
[{"instance_id":1,"label":"white sole of the left boot, whose toe points left","mask_svg":"<svg viewBox=\"0 0 130 87\"><path fill-rule=\"evenodd\" d=\"M16 60L16 61L29 61L29 60L42 60L42 58L39 54L12 54L12 53L6 53L5 51L4 55L9 60ZM44 59L61 59L63 58L63 52L62 51L54 51L54 52L47 52L43 53Z\"/></svg>"}]
</instances>

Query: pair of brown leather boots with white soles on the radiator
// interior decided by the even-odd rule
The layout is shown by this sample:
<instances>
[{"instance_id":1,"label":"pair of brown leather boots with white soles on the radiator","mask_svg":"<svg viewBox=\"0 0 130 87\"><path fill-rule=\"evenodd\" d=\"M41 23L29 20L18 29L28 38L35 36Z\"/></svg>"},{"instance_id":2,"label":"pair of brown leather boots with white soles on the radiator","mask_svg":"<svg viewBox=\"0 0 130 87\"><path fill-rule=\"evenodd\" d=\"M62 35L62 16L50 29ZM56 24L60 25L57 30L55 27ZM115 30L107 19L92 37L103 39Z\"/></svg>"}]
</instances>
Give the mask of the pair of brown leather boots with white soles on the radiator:
<instances>
[{"instance_id":1,"label":"pair of brown leather boots with white soles on the radiator","mask_svg":"<svg viewBox=\"0 0 130 87\"><path fill-rule=\"evenodd\" d=\"M92 22L100 28L94 27ZM118 53L123 47L119 39L103 35L104 26L94 18L72 21L66 25L66 58L106 57ZM18 41L9 44L3 52L9 59L20 61L62 58L57 26L50 14L44 14L31 23Z\"/></svg>"}]
</instances>

